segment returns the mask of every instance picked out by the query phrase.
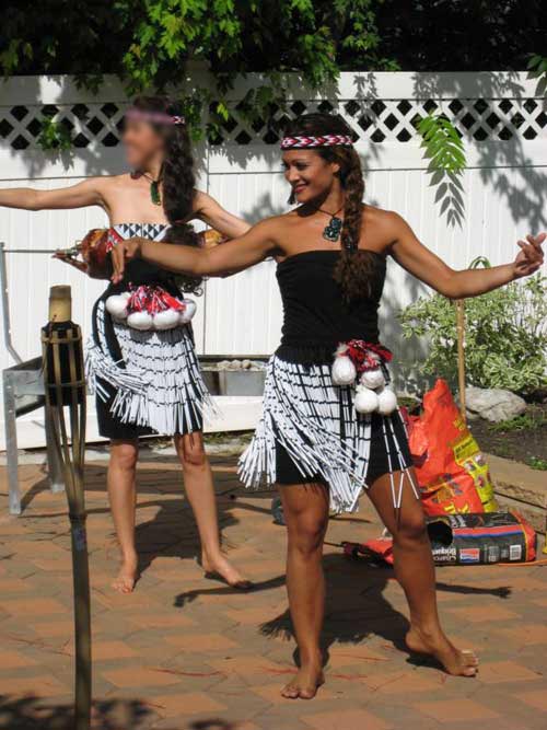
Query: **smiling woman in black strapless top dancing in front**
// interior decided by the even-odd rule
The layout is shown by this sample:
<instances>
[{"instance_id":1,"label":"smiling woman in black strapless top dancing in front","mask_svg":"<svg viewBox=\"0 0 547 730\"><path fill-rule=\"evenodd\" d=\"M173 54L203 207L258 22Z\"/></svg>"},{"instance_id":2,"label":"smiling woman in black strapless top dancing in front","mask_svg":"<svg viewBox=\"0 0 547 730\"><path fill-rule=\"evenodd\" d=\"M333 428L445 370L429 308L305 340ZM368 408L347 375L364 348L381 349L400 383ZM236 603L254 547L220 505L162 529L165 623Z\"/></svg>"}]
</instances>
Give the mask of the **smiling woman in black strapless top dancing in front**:
<instances>
[{"instance_id":1,"label":"smiling woman in black strapless top dancing in front","mask_svg":"<svg viewBox=\"0 0 547 730\"><path fill-rule=\"evenodd\" d=\"M291 123L281 147L286 178L300 205L237 241L197 251L141 239L114 250L115 280L125 260L138 257L194 276L219 276L267 256L279 262L282 340L269 363L263 416L241 475L247 485L265 476L280 486L289 538L287 588L300 652L300 670L282 691L289 698L311 698L324 682L322 553L329 502L337 510L352 509L363 487L394 538L397 578L410 612L409 650L432 654L451 674L477 672L475 654L456 649L439 622L404 425L396 410L387 415L395 406L393 393L380 391L389 354L379 343L376 310L387 256L454 299L533 274L543 262L545 234L519 242L512 264L449 268L397 213L362 204L363 175L350 134L336 116L306 115ZM335 350L337 360L349 354L364 366L357 389L344 384L356 375L354 370L348 375L348 360L333 367Z\"/></svg>"}]
</instances>

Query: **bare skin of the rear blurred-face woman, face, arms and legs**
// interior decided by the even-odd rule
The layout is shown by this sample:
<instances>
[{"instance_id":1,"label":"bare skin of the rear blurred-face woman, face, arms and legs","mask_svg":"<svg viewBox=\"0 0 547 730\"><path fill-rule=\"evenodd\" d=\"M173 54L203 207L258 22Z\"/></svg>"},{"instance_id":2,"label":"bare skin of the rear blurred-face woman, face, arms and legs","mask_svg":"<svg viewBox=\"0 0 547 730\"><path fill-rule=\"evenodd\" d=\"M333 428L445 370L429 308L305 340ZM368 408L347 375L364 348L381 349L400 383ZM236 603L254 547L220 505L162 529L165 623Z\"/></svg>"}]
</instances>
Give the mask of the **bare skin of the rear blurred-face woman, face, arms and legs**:
<instances>
[{"instance_id":1,"label":"bare skin of the rear blurred-face woman, face, arms and legs","mask_svg":"<svg viewBox=\"0 0 547 730\"><path fill-rule=\"evenodd\" d=\"M129 166L143 170L155 179L163 159L163 140L152 127L143 121L130 121L126 127L124 144ZM150 199L150 181L129 174L93 177L55 190L0 190L0 206L26 210L100 206L107 213L110 225L124 222L167 223L163 208ZM232 216L199 190L194 197L194 209L188 220L191 219L202 220L229 237L243 235L249 229L248 223ZM221 551L214 487L202 434L176 436L174 440L183 467L185 490L198 525L202 567L206 572L222 578L231 586L246 588L248 582ZM135 518L138 453L138 441L110 442L107 488L121 552L121 565L113 587L120 593L130 593L137 579Z\"/></svg>"}]
</instances>

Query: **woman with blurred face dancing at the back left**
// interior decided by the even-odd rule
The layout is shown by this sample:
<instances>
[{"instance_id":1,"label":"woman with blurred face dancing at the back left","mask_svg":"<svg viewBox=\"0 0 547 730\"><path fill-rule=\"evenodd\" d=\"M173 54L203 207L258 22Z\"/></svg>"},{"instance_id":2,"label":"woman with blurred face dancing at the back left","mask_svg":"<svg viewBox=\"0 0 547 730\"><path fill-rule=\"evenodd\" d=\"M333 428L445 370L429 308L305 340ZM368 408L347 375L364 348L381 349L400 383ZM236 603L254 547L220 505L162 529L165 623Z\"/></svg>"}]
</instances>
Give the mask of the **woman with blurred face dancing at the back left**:
<instances>
[{"instance_id":1,"label":"woman with blurred face dancing at the back left","mask_svg":"<svg viewBox=\"0 0 547 730\"><path fill-rule=\"evenodd\" d=\"M168 99L140 97L126 115L124 146L129 166L124 175L94 177L55 190L15 188L0 192L0 205L26 210L100 206L108 216L112 240L141 235L152 243L197 242L187 224L200 219L229 237L248 224L228 213L209 195L195 189L194 161L181 108ZM132 591L138 556L135 543L136 466L140 436L173 436L184 485L201 540L201 564L230 586L247 588L221 552L214 490L202 442L202 407L209 396L201 380L191 327L138 332L113 320L106 299L133 286L161 286L181 296L172 276L142 262L110 285L93 311L88 350L90 383L96 392L98 430L110 439L107 487L121 551L114 588ZM196 292L199 278L183 281Z\"/></svg>"}]
</instances>

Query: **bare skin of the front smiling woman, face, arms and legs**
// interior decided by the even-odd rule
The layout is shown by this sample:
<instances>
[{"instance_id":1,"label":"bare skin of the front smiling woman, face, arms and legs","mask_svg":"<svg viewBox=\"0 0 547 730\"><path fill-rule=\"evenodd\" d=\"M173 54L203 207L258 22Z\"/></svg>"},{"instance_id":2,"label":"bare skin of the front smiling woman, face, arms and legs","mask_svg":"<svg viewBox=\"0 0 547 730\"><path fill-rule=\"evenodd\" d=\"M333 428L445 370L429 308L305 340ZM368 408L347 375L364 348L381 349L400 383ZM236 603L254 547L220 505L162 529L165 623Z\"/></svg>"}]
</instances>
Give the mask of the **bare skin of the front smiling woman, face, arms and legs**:
<instances>
[{"instance_id":1,"label":"bare skin of the front smiling woman, face, arms and legs","mask_svg":"<svg viewBox=\"0 0 547 730\"><path fill-rule=\"evenodd\" d=\"M114 252L117 280L127 260L141 256L172 270L222 276L224 271L253 266L268 256L282 260L317 248L339 250L339 243L322 237L328 221L317 208L335 212L344 204L339 165L324 161L312 150L283 154L286 178L300 207L255 225L246 235L222 247L195 251L155 246L143 240L121 243ZM474 297L538 270L544 260L545 233L520 241L515 260L488 269L455 271L423 246L408 223L395 212L363 206L359 247L393 258L410 274L450 298ZM398 482L398 474L395 479ZM405 476L405 480L408 477ZM415 477L416 480L416 477ZM405 484L403 508L395 513L389 477L368 485L368 496L393 534L397 578L408 600L410 651L433 656L450 674L474 676L475 653L461 651L443 633L435 599L434 568L420 502ZM280 489L288 529L287 588L300 669L282 690L288 698L310 699L324 682L319 637L323 627L325 579L323 541L328 522L327 487L322 484L289 485Z\"/></svg>"}]
</instances>

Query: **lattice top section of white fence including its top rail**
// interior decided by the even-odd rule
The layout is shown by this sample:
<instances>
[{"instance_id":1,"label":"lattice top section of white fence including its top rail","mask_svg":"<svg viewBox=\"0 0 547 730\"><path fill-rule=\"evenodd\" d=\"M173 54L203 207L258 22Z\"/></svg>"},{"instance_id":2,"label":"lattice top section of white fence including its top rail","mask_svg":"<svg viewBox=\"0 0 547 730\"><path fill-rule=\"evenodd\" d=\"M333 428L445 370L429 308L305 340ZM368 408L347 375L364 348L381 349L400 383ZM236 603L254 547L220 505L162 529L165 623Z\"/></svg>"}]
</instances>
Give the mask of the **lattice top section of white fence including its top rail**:
<instances>
[{"instance_id":1,"label":"lattice top section of white fence including its top rail","mask_svg":"<svg viewBox=\"0 0 547 730\"><path fill-rule=\"evenodd\" d=\"M351 126L356 141L376 144L405 143L416 139L417 123L431 113L444 114L464 138L477 142L531 141L547 136L545 100L538 95L534 80L525 74L473 74L478 80L474 90L469 76L427 77L430 83L423 90L419 74L376 74L371 80L370 76L347 73L342 74L337 97L333 96L336 93L333 90L325 95L318 93L313 99L306 97L306 92L300 90L284 108L272 107L268 118L252 124L245 120L242 105L234 99L221 135L210 142L214 146L276 144L284 123L309 112L341 114ZM386 92L393 93L397 89L396 82L394 84L396 78L400 81L398 94L389 97ZM458 78L464 79L466 89L457 83ZM354 79L360 83L351 83ZM452 81L450 86L445 84L446 79ZM201 76L197 82L207 84L207 77ZM15 88L18 80L12 80L10 85ZM385 86L388 89L384 91ZM470 91L475 91L474 95L465 96ZM39 93L48 92L55 93L55 82L40 84ZM112 148L119 143L126 102L116 82L110 82L101 92L101 101L83 91L75 91L74 97L79 101L73 102L61 96L51 103L46 99L32 99L20 91L16 94L20 100L9 104L5 103L9 95L5 92L2 94L0 109L0 138L4 148L36 148L45 118L62 124L71 134L77 150L90 144ZM234 95L237 95L237 90Z\"/></svg>"}]
</instances>

